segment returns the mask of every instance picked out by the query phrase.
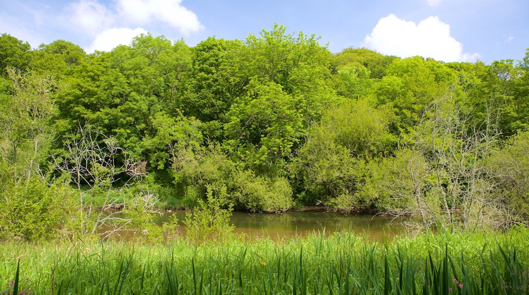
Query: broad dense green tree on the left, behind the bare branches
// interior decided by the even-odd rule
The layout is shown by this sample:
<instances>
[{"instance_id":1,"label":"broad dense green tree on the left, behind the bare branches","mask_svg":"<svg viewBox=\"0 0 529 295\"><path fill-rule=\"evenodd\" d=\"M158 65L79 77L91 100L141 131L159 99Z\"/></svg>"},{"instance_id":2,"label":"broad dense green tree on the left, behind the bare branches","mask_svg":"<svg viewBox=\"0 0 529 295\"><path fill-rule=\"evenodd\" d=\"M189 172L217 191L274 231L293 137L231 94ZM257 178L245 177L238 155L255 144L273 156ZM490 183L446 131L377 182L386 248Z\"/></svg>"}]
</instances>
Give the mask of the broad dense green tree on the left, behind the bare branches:
<instances>
[{"instance_id":1,"label":"broad dense green tree on the left, behind the bare branches","mask_svg":"<svg viewBox=\"0 0 529 295\"><path fill-rule=\"evenodd\" d=\"M177 79L187 62L177 54L186 48L181 42L173 47L163 36L142 35L131 47L90 55L90 62L81 63L67 79L54 127L68 134L79 122L94 125L114 136L133 158L147 158L142 139L154 132L150 118L161 109L177 114Z\"/></svg>"}]
</instances>

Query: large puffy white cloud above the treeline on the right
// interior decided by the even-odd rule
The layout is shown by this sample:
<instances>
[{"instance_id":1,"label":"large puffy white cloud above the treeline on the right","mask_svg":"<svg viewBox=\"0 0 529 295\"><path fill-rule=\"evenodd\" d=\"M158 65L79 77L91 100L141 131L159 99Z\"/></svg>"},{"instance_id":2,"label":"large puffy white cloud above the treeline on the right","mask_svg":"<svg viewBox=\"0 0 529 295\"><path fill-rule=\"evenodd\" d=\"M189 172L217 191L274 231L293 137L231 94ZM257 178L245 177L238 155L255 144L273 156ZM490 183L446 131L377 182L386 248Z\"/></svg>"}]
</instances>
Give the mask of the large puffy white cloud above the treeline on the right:
<instances>
[{"instance_id":1,"label":"large puffy white cloud above the treeline on the right","mask_svg":"<svg viewBox=\"0 0 529 295\"><path fill-rule=\"evenodd\" d=\"M400 20L394 14L382 17L362 46L402 58L422 56L446 62L479 58L478 53L463 53L463 45L450 36L450 25L437 16L418 24Z\"/></svg>"}]
</instances>

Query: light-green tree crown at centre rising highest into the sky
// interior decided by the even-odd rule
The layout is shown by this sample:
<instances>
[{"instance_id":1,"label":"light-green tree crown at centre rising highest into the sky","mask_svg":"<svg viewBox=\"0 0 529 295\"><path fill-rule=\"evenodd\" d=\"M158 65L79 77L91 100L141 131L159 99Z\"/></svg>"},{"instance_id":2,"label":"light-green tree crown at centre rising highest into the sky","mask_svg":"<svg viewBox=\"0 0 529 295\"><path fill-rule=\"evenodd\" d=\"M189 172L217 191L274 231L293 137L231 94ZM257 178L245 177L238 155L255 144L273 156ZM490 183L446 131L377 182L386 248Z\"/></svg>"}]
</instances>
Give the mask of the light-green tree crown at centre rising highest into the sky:
<instances>
[{"instance_id":1,"label":"light-green tree crown at centre rising highest into the sky","mask_svg":"<svg viewBox=\"0 0 529 295\"><path fill-rule=\"evenodd\" d=\"M314 35L287 34L285 26L274 24L259 37L250 34L245 45L248 50L243 56L243 72L263 85L280 85L292 95L304 128L319 121L323 109L334 103L331 53Z\"/></svg>"}]
</instances>

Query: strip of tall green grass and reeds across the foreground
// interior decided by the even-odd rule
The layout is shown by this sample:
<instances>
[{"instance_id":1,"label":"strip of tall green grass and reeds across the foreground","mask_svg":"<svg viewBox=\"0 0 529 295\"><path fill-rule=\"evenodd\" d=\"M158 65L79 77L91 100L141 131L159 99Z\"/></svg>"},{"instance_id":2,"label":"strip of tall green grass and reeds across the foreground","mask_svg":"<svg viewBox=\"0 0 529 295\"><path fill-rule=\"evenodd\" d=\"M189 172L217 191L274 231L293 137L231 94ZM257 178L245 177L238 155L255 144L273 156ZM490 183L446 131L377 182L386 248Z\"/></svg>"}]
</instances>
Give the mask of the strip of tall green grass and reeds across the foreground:
<instances>
[{"instance_id":1,"label":"strip of tall green grass and reeds across the foreground","mask_svg":"<svg viewBox=\"0 0 529 295\"><path fill-rule=\"evenodd\" d=\"M0 293L13 292L14 280L37 294L526 294L528 250L527 229L383 243L352 233L200 245L10 242L0 244Z\"/></svg>"}]
</instances>

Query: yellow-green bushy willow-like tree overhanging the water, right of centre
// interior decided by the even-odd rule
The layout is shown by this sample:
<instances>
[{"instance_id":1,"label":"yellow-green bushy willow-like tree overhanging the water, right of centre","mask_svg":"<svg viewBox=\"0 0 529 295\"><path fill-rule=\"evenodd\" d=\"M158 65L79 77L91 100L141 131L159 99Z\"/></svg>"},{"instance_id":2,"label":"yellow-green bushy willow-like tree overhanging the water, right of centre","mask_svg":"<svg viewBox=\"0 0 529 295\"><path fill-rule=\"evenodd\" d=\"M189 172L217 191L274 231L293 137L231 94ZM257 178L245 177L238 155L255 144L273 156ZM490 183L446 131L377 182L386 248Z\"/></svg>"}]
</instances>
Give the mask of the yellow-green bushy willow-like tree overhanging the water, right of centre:
<instances>
[{"instance_id":1,"label":"yellow-green bushy willow-like tree overhanging the water, right of centre","mask_svg":"<svg viewBox=\"0 0 529 295\"><path fill-rule=\"evenodd\" d=\"M390 113L365 101L344 103L327 110L307 133L295 172L303 189L342 210L371 208L355 197L364 182L366 162L390 154L395 137L389 134Z\"/></svg>"}]
</instances>

